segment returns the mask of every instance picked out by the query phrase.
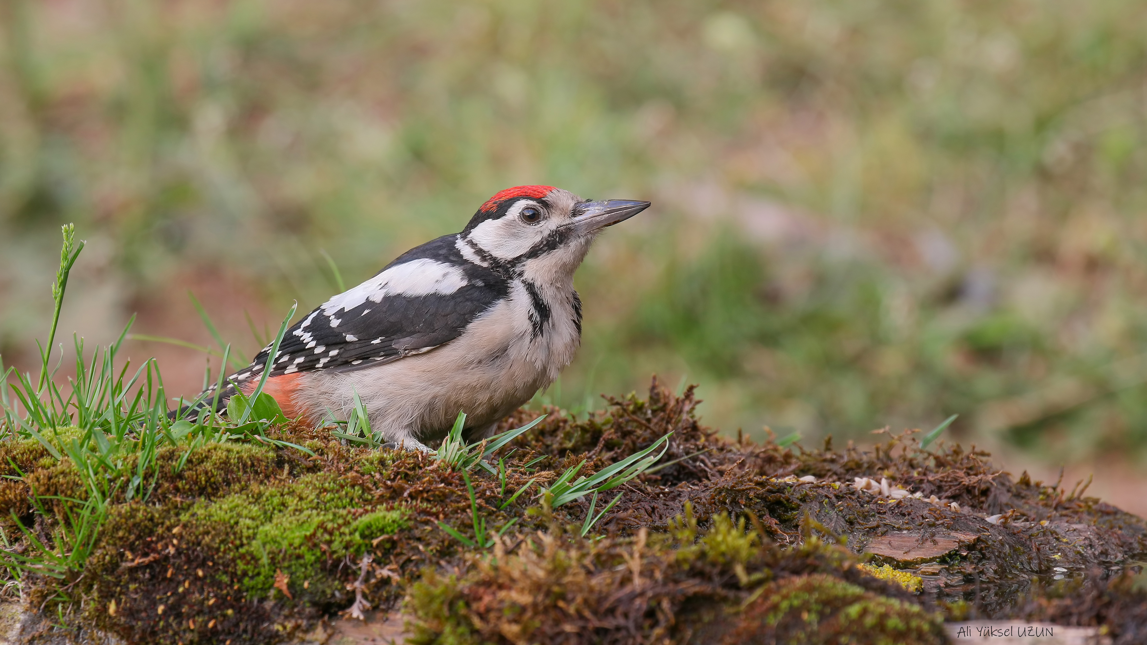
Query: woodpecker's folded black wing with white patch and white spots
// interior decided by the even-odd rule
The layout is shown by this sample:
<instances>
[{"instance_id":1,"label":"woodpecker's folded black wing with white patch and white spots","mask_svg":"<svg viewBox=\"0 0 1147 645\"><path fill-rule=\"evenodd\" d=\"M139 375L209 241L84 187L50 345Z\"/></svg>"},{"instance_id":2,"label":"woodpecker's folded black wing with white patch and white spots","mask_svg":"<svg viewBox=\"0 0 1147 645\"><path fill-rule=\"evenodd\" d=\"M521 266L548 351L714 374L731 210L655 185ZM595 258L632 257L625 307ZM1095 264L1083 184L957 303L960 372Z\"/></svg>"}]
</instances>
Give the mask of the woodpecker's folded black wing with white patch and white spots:
<instances>
[{"instance_id":1,"label":"woodpecker's folded black wing with white patch and white spots","mask_svg":"<svg viewBox=\"0 0 1147 645\"><path fill-rule=\"evenodd\" d=\"M498 273L462 258L454 235L438 238L295 324L271 374L357 370L428 351L461 335L507 292ZM241 374L258 376L268 352Z\"/></svg>"}]
</instances>

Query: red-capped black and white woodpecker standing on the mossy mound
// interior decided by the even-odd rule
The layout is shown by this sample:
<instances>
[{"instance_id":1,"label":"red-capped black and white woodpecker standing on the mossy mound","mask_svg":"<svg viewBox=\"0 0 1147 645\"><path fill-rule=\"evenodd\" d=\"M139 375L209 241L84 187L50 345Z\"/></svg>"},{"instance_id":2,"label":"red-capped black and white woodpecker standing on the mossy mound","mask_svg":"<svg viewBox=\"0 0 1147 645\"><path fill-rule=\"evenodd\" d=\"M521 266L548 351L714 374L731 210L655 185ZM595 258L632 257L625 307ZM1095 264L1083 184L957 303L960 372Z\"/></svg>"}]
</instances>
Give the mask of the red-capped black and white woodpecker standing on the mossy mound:
<instances>
[{"instance_id":1,"label":"red-capped black and white woodpecker standing on the mossy mound","mask_svg":"<svg viewBox=\"0 0 1147 645\"><path fill-rule=\"evenodd\" d=\"M553 186L501 191L461 233L406 251L291 327L263 391L310 422L346 419L357 393L372 428L412 449L429 450L422 442L459 411L468 436L489 436L574 359L574 271L594 238L648 207ZM270 351L226 379L221 405L236 387L255 390Z\"/></svg>"}]
</instances>

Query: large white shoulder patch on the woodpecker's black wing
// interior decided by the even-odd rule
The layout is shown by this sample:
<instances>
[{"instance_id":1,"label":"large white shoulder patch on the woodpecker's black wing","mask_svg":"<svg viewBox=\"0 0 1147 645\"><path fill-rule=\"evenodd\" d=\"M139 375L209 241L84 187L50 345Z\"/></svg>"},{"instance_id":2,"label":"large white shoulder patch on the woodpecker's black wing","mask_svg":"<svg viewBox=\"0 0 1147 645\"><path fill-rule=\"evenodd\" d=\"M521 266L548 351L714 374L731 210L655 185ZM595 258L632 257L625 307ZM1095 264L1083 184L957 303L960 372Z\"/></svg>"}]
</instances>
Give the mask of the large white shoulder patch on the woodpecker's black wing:
<instances>
[{"instance_id":1,"label":"large white shoulder patch on the woodpecker's black wing","mask_svg":"<svg viewBox=\"0 0 1147 645\"><path fill-rule=\"evenodd\" d=\"M385 296L448 295L466 283L466 273L457 266L428 258L412 259L328 300L322 304L322 312L330 316L338 310L350 311L366 301L382 302ZM331 326L335 325L337 322Z\"/></svg>"}]
</instances>

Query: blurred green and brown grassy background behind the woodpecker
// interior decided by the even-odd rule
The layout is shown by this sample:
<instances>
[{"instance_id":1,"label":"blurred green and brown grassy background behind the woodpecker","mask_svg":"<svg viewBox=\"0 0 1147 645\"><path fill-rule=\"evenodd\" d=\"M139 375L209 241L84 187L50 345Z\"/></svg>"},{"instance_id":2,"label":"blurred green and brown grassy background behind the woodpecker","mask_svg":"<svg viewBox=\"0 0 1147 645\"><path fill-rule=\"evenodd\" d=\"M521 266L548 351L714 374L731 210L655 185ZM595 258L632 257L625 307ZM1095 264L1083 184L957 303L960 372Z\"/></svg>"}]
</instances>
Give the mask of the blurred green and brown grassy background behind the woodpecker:
<instances>
[{"instance_id":1,"label":"blurred green and brown grassy background behind the woodpecker","mask_svg":"<svg viewBox=\"0 0 1147 645\"><path fill-rule=\"evenodd\" d=\"M650 373L707 422L1147 461L1147 5L6 0L0 353L62 332L248 356L289 303L496 191L648 199L578 274L545 397ZM42 340L42 339L41 339ZM177 391L201 355L136 343Z\"/></svg>"}]
</instances>

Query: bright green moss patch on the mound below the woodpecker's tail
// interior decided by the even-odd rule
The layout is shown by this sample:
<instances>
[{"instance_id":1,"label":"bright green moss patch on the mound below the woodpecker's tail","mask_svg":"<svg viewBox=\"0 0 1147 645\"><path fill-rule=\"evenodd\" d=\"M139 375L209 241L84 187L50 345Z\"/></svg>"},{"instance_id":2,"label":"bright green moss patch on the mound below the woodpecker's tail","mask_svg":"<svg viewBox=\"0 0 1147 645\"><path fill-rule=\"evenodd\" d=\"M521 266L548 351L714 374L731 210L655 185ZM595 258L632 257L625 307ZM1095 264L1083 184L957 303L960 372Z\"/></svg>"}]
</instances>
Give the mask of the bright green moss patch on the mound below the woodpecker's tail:
<instances>
[{"instance_id":1,"label":"bright green moss patch on the mound below the woodpecker's tail","mask_svg":"<svg viewBox=\"0 0 1147 645\"><path fill-rule=\"evenodd\" d=\"M400 510L364 514L369 500L360 487L321 473L198 502L182 520L192 533L214 536L235 562L234 582L249 596L268 596L276 572L289 576L290 586L307 583L311 595L323 595L338 585L322 570L331 557L360 554L370 539L406 526Z\"/></svg>"}]
</instances>

